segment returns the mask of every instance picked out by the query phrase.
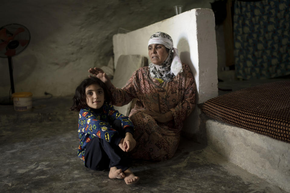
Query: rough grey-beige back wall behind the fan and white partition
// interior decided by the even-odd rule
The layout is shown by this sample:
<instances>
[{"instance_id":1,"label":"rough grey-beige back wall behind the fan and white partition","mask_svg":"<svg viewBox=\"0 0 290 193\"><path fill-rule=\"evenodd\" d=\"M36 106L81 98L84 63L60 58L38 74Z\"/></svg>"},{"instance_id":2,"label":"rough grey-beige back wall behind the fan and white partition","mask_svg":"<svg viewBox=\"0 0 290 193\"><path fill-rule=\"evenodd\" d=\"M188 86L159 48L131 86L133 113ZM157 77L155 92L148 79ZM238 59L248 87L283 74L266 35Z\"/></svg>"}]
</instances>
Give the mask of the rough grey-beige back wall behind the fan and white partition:
<instances>
[{"instance_id":1,"label":"rough grey-beige back wall behind the fan and white partition","mask_svg":"<svg viewBox=\"0 0 290 193\"><path fill-rule=\"evenodd\" d=\"M211 8L209 0L180 0L183 11ZM174 1L2 1L0 27L27 27L31 41L12 57L15 92L74 93L90 67L107 65L113 56L112 36L118 29L136 30L174 16ZM149 37L148 37L149 38ZM134 46L134 45L132 45ZM9 97L7 58L0 58L0 97Z\"/></svg>"}]
</instances>

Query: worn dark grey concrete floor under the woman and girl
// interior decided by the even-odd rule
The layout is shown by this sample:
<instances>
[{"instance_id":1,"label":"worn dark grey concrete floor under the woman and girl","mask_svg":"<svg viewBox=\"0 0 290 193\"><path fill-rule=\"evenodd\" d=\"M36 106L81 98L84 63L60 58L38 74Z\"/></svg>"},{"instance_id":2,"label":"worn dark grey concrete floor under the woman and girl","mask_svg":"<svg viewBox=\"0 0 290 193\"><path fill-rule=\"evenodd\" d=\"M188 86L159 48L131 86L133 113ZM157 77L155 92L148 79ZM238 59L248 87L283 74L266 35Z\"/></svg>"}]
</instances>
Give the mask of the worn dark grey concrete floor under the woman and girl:
<instances>
[{"instance_id":1,"label":"worn dark grey concrete floor under the woman and girl","mask_svg":"<svg viewBox=\"0 0 290 193\"><path fill-rule=\"evenodd\" d=\"M133 161L137 184L109 179L77 157L71 98L36 100L26 112L0 106L1 192L285 192L186 138L170 160Z\"/></svg>"}]
</instances>

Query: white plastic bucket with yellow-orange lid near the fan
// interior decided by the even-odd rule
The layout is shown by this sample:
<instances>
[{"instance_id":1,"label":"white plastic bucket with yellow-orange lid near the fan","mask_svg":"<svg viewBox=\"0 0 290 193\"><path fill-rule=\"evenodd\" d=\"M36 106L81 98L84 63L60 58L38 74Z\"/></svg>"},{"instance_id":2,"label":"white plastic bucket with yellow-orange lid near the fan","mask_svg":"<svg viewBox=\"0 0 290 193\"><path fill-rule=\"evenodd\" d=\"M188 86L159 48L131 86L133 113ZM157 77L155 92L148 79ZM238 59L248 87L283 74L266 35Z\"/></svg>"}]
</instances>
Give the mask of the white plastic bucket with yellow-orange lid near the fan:
<instances>
[{"instance_id":1,"label":"white plastic bucket with yellow-orange lid near the fan","mask_svg":"<svg viewBox=\"0 0 290 193\"><path fill-rule=\"evenodd\" d=\"M15 111L27 111L32 108L31 92L13 93L12 98Z\"/></svg>"}]
</instances>

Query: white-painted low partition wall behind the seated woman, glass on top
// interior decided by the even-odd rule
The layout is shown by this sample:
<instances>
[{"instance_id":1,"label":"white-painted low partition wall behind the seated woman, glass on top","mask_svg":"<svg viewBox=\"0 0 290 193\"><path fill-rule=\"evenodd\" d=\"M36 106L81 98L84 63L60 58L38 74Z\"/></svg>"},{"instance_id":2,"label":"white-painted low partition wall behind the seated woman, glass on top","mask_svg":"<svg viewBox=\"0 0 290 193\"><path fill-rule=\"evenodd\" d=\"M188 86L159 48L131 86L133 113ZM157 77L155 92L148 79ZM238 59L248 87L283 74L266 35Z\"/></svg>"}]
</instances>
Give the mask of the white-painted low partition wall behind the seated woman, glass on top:
<instances>
[{"instance_id":1,"label":"white-painted low partition wall behind the seated woman, glass on top","mask_svg":"<svg viewBox=\"0 0 290 193\"><path fill-rule=\"evenodd\" d=\"M113 36L114 64L120 55L140 54L148 58L148 40L158 31L172 37L180 59L194 75L197 103L218 96L217 46L214 13L198 8L126 34ZM150 61L150 60L149 60Z\"/></svg>"}]
</instances>

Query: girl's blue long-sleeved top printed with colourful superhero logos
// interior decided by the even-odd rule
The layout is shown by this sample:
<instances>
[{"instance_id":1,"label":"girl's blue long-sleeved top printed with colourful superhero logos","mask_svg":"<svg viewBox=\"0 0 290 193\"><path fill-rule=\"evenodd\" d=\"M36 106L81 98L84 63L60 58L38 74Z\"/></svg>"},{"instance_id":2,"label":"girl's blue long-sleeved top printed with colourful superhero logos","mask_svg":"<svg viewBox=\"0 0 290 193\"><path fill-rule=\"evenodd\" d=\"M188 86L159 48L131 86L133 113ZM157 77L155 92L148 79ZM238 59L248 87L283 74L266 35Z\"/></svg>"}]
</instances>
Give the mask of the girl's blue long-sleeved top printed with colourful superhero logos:
<instances>
[{"instance_id":1,"label":"girl's blue long-sleeved top printed with colourful superhero logos","mask_svg":"<svg viewBox=\"0 0 290 193\"><path fill-rule=\"evenodd\" d=\"M85 147L94 137L101 138L116 145L121 140L118 131L111 127L114 120L120 120L125 133L133 134L134 125L130 118L115 110L112 105L104 104L100 109L89 107L79 112L79 149L78 157L84 160Z\"/></svg>"}]
</instances>

